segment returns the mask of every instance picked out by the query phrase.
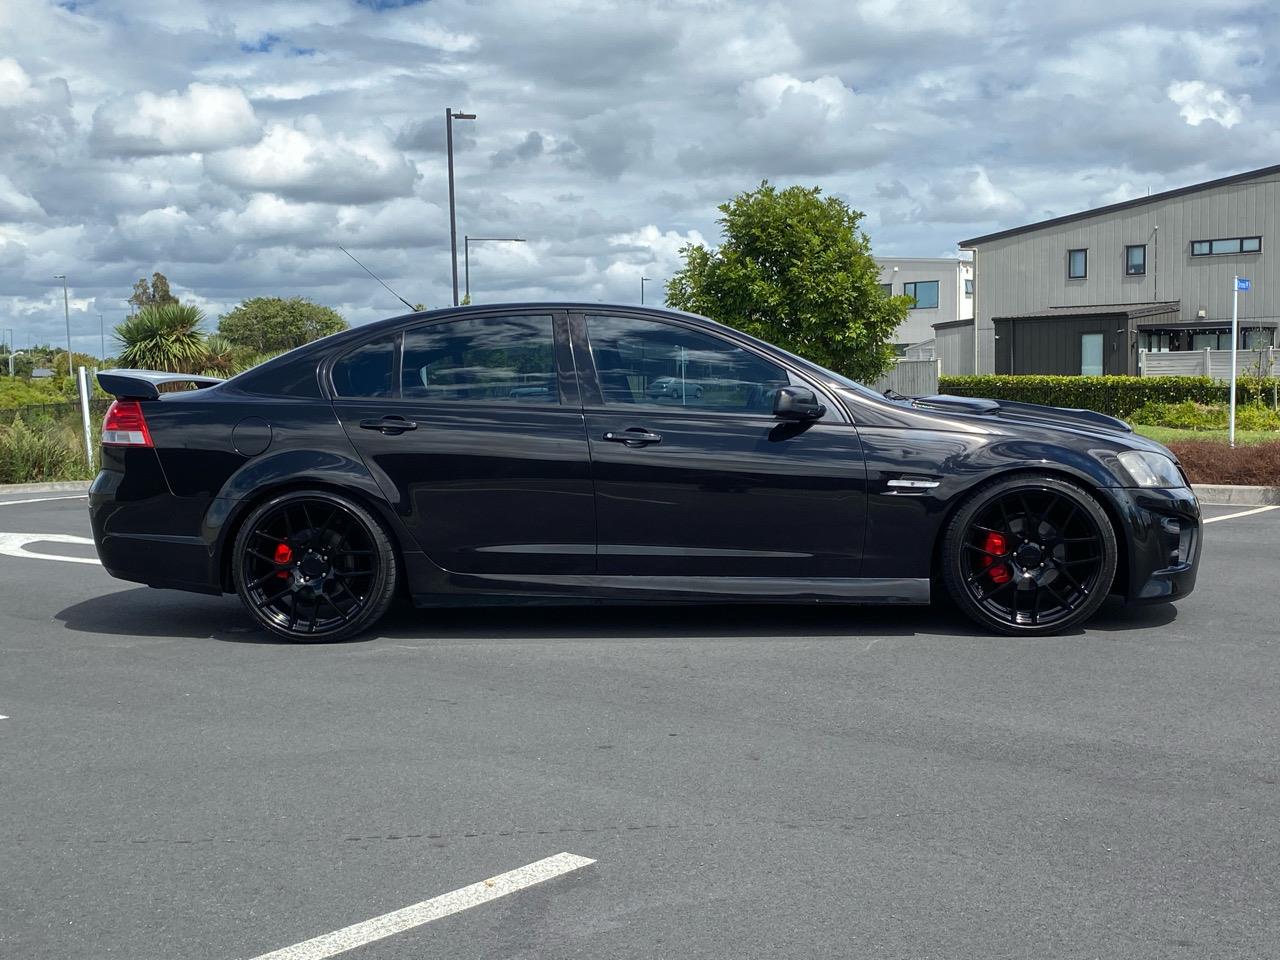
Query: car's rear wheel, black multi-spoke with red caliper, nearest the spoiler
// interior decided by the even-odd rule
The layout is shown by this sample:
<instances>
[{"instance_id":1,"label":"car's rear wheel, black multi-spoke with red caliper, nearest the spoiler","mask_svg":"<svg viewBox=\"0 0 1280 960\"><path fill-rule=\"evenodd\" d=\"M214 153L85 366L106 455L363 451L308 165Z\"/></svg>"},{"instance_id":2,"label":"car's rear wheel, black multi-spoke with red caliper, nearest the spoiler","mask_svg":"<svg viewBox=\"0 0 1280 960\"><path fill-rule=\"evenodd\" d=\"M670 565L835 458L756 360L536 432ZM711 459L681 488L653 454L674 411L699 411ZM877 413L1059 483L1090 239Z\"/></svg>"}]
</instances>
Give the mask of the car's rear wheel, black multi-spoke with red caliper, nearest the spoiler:
<instances>
[{"instance_id":1,"label":"car's rear wheel, black multi-spoke with red caliper, nearest the spoiler","mask_svg":"<svg viewBox=\"0 0 1280 960\"><path fill-rule=\"evenodd\" d=\"M296 490L256 507L236 536L232 579L250 616L297 641L334 641L376 622L398 566L383 525L355 500Z\"/></svg>"}]
</instances>

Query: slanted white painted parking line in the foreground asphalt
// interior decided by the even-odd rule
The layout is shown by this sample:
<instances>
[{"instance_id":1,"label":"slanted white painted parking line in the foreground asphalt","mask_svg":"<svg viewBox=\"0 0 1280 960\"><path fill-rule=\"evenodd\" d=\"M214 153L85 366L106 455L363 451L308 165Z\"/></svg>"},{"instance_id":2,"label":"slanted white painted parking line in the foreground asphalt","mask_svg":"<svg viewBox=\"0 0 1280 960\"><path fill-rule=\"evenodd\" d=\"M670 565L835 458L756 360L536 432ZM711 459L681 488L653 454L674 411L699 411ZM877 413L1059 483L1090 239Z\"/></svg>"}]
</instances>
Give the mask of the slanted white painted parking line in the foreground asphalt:
<instances>
[{"instance_id":1,"label":"slanted white painted parking line in the foreground asphalt","mask_svg":"<svg viewBox=\"0 0 1280 960\"><path fill-rule=\"evenodd\" d=\"M472 883L470 887L454 890L452 893L443 893L431 900L424 900L421 904L343 927L340 931L325 933L321 937L305 940L292 947L273 950L270 954L253 957L253 960L324 960L324 957L362 947L365 943L421 927L424 923L439 920L442 916L488 904L490 900L579 870L593 863L595 860L576 854L556 854L556 856L548 856L545 860L531 863L527 867L518 867L486 881Z\"/></svg>"}]
</instances>

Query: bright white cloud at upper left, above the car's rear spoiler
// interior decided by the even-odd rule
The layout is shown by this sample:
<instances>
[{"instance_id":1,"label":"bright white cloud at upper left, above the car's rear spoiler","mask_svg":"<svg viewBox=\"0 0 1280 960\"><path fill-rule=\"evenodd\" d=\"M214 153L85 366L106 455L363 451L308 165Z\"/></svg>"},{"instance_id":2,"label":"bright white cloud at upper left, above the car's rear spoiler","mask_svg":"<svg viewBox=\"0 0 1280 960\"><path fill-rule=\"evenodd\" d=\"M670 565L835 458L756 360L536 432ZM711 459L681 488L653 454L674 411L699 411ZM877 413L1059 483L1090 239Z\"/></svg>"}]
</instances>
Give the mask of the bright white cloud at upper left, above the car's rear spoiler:
<instances>
[{"instance_id":1,"label":"bright white cloud at upper left, above the car's rear spoiler","mask_svg":"<svg viewBox=\"0 0 1280 960\"><path fill-rule=\"evenodd\" d=\"M93 113L95 148L146 156L223 150L259 138L261 125L238 87L192 83L186 91L109 100Z\"/></svg>"}]
</instances>

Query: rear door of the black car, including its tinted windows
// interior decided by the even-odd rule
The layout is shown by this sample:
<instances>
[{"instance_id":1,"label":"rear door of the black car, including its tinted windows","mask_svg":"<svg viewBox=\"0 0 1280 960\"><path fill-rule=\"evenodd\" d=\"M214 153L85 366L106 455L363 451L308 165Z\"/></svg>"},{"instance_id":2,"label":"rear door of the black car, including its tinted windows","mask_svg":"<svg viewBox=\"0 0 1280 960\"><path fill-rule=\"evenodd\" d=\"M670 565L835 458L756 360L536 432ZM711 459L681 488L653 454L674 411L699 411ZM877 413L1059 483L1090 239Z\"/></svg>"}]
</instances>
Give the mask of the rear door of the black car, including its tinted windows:
<instances>
[{"instance_id":1,"label":"rear door of the black car, including its tinted windows","mask_svg":"<svg viewBox=\"0 0 1280 960\"><path fill-rule=\"evenodd\" d=\"M438 566L591 573L590 458L567 319L434 320L332 366L334 411Z\"/></svg>"}]
</instances>

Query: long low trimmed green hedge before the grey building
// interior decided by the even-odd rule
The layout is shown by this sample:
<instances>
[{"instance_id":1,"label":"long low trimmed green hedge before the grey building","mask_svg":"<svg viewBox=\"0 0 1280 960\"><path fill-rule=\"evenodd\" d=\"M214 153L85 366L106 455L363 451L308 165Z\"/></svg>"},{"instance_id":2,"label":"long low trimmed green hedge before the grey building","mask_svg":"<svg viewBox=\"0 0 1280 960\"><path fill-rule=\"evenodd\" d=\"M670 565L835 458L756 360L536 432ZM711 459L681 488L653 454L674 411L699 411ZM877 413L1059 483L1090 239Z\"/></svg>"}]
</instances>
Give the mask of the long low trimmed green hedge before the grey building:
<instances>
[{"instance_id":1,"label":"long low trimmed green hedge before the grey building","mask_svg":"<svg viewBox=\"0 0 1280 960\"><path fill-rule=\"evenodd\" d=\"M1236 403L1261 396L1268 403L1280 378L1240 378ZM942 376L938 393L956 397L1080 407L1128 419L1148 403L1217 404L1228 402L1229 387L1207 376Z\"/></svg>"}]
</instances>

